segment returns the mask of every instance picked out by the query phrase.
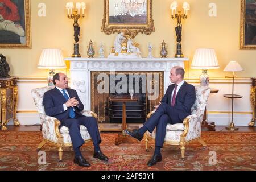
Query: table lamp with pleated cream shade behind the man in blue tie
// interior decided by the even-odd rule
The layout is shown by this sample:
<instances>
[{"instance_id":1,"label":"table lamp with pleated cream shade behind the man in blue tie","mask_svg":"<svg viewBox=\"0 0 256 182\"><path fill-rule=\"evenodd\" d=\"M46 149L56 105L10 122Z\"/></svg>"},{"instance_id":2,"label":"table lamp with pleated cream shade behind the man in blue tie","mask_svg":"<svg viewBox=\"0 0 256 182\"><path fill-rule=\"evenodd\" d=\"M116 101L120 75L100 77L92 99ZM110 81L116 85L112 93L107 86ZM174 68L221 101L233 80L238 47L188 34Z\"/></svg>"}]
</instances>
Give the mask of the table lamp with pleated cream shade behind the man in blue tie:
<instances>
[{"instance_id":1,"label":"table lamp with pleated cream shade behind the man in blue tie","mask_svg":"<svg viewBox=\"0 0 256 182\"><path fill-rule=\"evenodd\" d=\"M52 78L55 75L54 70L66 68L61 49L43 49L39 59L38 68L49 69L47 78L48 86L53 86Z\"/></svg>"}]
</instances>

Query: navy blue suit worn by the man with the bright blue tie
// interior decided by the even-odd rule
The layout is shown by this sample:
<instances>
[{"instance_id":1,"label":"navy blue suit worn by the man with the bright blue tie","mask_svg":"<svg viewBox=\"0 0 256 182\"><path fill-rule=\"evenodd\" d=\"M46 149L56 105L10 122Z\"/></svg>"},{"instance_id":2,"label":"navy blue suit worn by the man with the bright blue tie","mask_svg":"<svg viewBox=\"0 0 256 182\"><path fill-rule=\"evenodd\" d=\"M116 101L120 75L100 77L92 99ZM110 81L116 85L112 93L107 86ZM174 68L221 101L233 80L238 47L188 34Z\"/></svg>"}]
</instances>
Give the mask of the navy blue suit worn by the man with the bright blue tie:
<instances>
[{"instance_id":1,"label":"navy blue suit worn by the man with the bright blue tie","mask_svg":"<svg viewBox=\"0 0 256 182\"><path fill-rule=\"evenodd\" d=\"M100 144L101 137L98 131L97 120L93 117L86 117L81 114L81 111L84 109L84 105L80 101L76 90L67 88L67 91L69 98L75 97L76 100L79 101L79 107L73 107L75 109L76 117L69 117L69 109L73 109L72 107L68 107L68 110L64 111L63 104L67 102L67 100L63 93L61 93L57 88L44 93L43 106L46 111L46 115L59 119L61 126L64 125L68 127L74 150L84 144L84 139L82 139L80 134L80 125L84 125L87 128L94 146L95 144Z\"/></svg>"}]
</instances>

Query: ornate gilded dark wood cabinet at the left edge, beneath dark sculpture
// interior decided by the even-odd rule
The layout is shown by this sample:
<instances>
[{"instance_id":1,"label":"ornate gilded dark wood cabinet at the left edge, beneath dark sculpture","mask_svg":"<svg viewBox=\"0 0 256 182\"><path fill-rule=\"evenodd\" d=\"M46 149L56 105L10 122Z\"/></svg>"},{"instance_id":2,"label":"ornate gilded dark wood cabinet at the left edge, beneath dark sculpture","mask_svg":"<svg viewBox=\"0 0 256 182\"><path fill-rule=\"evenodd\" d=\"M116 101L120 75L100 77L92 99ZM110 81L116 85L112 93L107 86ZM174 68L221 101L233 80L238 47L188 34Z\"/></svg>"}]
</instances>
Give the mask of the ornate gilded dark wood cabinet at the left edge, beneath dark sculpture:
<instances>
[{"instance_id":1,"label":"ornate gilded dark wood cabinet at the left edge, beneath dark sculpture","mask_svg":"<svg viewBox=\"0 0 256 182\"><path fill-rule=\"evenodd\" d=\"M1 130L7 130L7 122L11 119L14 125L18 126L16 119L16 108L18 105L18 86L17 78L0 78L0 126Z\"/></svg>"}]
</instances>

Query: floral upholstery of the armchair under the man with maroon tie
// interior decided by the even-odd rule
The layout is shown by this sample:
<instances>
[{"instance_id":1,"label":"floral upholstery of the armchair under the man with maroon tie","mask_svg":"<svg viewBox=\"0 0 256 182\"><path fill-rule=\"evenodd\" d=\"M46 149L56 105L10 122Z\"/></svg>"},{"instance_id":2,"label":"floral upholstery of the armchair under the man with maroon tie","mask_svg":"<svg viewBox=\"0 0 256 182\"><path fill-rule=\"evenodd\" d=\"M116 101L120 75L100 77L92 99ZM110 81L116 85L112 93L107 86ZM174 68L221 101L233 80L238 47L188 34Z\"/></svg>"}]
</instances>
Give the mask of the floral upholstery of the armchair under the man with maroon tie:
<instances>
[{"instance_id":1,"label":"floral upholstery of the armchair under the man with maroon tie","mask_svg":"<svg viewBox=\"0 0 256 182\"><path fill-rule=\"evenodd\" d=\"M191 108L191 115L187 118L189 119L188 133L185 137L186 141L200 137L201 135L201 122L203 120L205 106L207 105L208 97L210 94L210 88L208 86L195 86L196 88L196 100ZM175 125L167 124L166 127L166 137L165 142L179 142L180 135L185 130L185 125L183 123L177 123ZM155 131L152 133L148 132L150 137L155 138Z\"/></svg>"}]
</instances>

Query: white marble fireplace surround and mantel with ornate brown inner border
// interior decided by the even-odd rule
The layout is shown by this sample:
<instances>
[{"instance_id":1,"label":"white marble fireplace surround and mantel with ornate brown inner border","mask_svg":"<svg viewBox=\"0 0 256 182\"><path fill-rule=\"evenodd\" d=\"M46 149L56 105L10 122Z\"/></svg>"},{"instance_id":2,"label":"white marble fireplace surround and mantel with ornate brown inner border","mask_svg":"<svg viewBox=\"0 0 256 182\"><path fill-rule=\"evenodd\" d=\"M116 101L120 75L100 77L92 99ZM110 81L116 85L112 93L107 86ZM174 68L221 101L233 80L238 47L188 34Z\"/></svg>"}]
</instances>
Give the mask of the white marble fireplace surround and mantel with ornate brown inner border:
<instances>
[{"instance_id":1,"label":"white marble fireplace surround and mantel with ornate brown inner border","mask_svg":"<svg viewBox=\"0 0 256 182\"><path fill-rule=\"evenodd\" d=\"M112 108L109 108L108 98L110 93L97 94L97 85L104 83L103 79L97 79L96 75L99 73L106 73L106 77L110 77L110 72L115 71L115 75L123 73L124 75L129 73L159 73L159 82L156 82L152 77L151 82L147 82L147 86L151 85L154 90L154 85L159 84L159 97L152 99L151 94L148 94L151 90L147 90L142 97L145 97L145 101L140 102L144 105L145 118L146 114L154 110L154 106L158 105L161 97L165 93L166 89L170 85L170 69L174 66L181 66L184 68L185 61L189 59L184 58L139 58L139 59L106 59L106 58L73 58L68 57L65 60L70 61L70 77L71 88L77 90L77 94L80 97L81 102L84 104L85 110L92 110L98 114L98 123L101 131L122 131L122 125L120 123L110 123L109 115L112 114L109 109L120 110L115 103ZM150 75L150 74L149 74ZM151 74L154 75L154 74ZM147 80L150 80L146 75ZM137 83L137 82L136 82ZM149 100L148 97L151 97ZM147 98L147 99L146 99ZM132 106L127 106L127 109ZM104 108L104 109L102 109ZM137 108L143 110L143 107ZM129 112L127 112L129 113ZM138 114L138 113L136 113ZM117 118L119 119L119 118ZM111 121L112 122L112 121ZM117 121L113 121L117 122ZM140 122L140 121L139 121ZM132 123L128 126L133 126Z\"/></svg>"}]
</instances>

